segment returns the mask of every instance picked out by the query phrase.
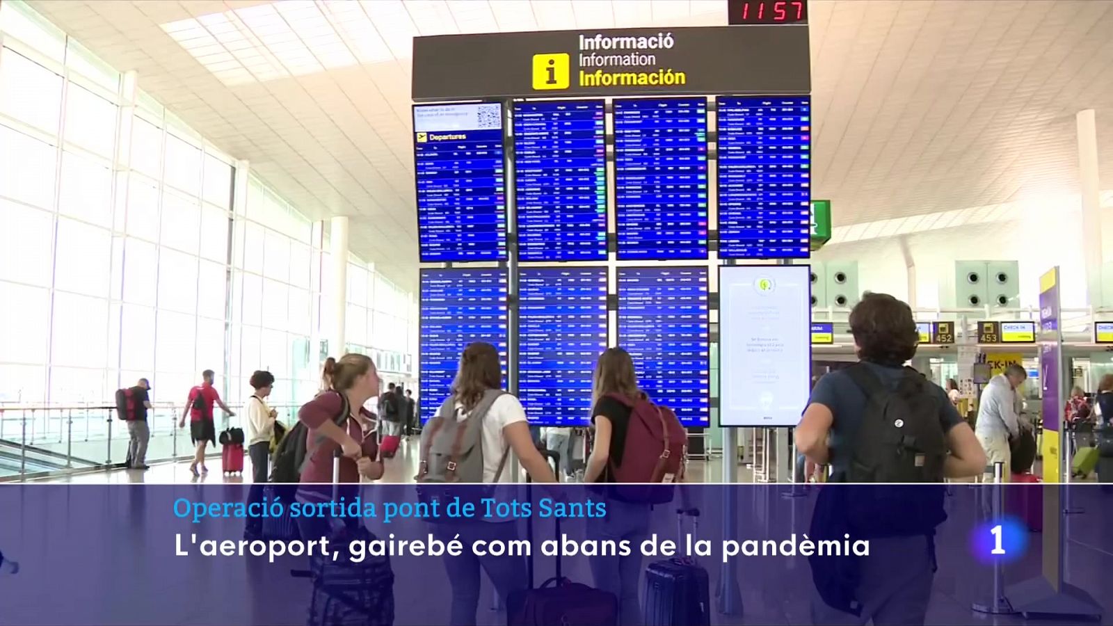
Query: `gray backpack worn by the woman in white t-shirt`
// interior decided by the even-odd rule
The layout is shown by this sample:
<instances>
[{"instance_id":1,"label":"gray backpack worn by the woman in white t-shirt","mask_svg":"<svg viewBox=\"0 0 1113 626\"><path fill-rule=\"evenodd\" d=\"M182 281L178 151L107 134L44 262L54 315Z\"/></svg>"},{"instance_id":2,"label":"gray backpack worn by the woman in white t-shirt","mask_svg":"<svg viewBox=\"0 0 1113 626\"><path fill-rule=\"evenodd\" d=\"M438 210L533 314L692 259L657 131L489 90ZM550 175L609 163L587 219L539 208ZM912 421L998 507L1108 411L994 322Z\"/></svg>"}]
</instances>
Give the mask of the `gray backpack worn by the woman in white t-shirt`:
<instances>
[{"instance_id":1,"label":"gray backpack worn by the woman in white t-shirt","mask_svg":"<svg viewBox=\"0 0 1113 626\"><path fill-rule=\"evenodd\" d=\"M489 389L464 420L456 420L456 398L441 404L436 417L421 433L421 464L417 482L483 482L483 421L491 405L505 391ZM510 446L502 451L494 482L506 466Z\"/></svg>"}]
</instances>

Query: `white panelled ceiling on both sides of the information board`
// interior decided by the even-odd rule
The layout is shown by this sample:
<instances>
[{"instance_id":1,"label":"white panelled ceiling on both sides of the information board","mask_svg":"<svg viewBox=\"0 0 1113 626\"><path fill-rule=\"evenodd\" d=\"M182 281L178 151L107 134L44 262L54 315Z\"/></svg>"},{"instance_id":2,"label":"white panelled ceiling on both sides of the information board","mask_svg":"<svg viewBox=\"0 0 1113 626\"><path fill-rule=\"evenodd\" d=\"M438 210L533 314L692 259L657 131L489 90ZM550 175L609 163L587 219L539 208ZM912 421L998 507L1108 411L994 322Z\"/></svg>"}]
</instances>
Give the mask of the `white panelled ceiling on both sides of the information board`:
<instances>
[{"instance_id":1,"label":"white panelled ceiling on both sides of the information board","mask_svg":"<svg viewBox=\"0 0 1113 626\"><path fill-rule=\"evenodd\" d=\"M722 0L32 0L352 250L416 277L415 35L726 22ZM1113 2L811 0L812 189L847 241L1077 193L1074 115L1113 180ZM986 207L964 212L971 207ZM993 208L989 208L993 207Z\"/></svg>"}]
</instances>

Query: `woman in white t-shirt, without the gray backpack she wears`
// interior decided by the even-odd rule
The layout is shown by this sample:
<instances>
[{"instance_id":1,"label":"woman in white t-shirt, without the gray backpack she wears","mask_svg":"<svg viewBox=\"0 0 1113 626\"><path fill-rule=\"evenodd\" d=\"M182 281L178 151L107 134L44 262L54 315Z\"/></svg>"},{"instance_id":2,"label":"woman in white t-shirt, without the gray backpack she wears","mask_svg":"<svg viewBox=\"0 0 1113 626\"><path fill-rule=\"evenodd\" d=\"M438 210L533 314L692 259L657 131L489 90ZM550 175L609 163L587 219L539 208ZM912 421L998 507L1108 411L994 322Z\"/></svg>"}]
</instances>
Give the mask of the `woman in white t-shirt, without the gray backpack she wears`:
<instances>
[{"instance_id":1,"label":"woman in white t-shirt, without the gray backpack she wears","mask_svg":"<svg viewBox=\"0 0 1113 626\"><path fill-rule=\"evenodd\" d=\"M470 344L460 359L460 370L452 384L452 395L455 399L456 420L463 421L471 415L483 395L492 389L502 387L502 365L499 352L490 343L475 342ZM525 409L518 398L505 393L500 395L486 415L483 418L483 482L518 482L512 476L506 462L506 454L513 452L522 468L529 472L534 482L555 482L556 477L545 461L533 438L525 419ZM503 492L512 487L502 488L492 495L495 500L513 499L513 493ZM510 541L516 539L516 525L511 519L475 519L457 520L454 524L434 525L434 529L443 535L443 540L457 539L465 546L475 541ZM446 555L444 567L449 574L452 587L450 624L477 624L475 612L480 603L480 569L486 573L495 590L505 599L513 591L524 590L526 585L525 559L513 556L493 557L489 554L476 556L471 550L464 550L459 557Z\"/></svg>"}]
</instances>

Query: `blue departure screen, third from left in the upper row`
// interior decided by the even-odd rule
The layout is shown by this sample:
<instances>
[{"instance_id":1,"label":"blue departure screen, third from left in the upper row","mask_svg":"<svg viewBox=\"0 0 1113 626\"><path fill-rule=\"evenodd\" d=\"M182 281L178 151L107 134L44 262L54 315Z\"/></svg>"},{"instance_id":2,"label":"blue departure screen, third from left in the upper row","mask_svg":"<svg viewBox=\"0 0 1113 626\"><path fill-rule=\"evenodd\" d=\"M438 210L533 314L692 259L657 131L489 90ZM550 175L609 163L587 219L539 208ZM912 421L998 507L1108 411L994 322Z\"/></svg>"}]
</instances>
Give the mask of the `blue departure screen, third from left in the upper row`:
<instances>
[{"instance_id":1,"label":"blue departure screen, third from left in the upper row","mask_svg":"<svg viewBox=\"0 0 1113 626\"><path fill-rule=\"evenodd\" d=\"M707 258L707 98L614 100L620 260Z\"/></svg>"}]
</instances>

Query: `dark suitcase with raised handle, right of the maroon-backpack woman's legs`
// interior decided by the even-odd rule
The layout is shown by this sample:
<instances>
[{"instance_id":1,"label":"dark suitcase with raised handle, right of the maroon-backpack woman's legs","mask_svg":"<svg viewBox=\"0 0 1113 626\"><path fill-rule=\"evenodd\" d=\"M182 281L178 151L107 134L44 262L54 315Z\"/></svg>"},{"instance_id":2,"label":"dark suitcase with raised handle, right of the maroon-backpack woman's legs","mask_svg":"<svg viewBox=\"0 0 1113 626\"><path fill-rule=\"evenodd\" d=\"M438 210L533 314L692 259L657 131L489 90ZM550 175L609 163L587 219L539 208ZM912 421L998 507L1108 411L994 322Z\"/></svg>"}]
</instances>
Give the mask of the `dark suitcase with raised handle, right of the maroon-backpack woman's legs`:
<instances>
[{"instance_id":1,"label":"dark suitcase with raised handle, right of the maroon-backpack woman's legs","mask_svg":"<svg viewBox=\"0 0 1113 626\"><path fill-rule=\"evenodd\" d=\"M678 545L684 545L683 518L692 519L692 535L699 529L699 509L677 509ZM711 594L707 570L695 560L671 558L646 568L642 595L646 626L709 626Z\"/></svg>"}]
</instances>

